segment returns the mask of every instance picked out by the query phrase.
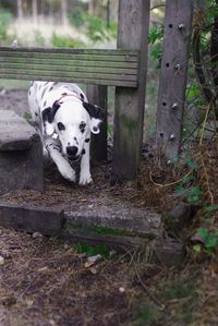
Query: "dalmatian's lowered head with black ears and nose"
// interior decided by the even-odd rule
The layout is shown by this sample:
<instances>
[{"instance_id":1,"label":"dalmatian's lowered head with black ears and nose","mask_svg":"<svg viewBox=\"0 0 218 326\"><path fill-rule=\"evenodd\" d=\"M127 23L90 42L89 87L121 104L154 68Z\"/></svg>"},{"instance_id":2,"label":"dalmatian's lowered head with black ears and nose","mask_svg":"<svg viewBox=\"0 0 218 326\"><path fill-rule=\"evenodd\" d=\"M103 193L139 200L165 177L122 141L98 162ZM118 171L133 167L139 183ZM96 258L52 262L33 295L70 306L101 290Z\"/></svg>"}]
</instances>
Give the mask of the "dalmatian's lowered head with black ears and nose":
<instances>
[{"instance_id":1,"label":"dalmatian's lowered head with black ears and nose","mask_svg":"<svg viewBox=\"0 0 218 326\"><path fill-rule=\"evenodd\" d=\"M102 109L78 99L56 101L52 108L43 111L45 132L58 134L62 153L71 160L83 154L85 142L89 142L90 132L98 134L102 122Z\"/></svg>"}]
</instances>

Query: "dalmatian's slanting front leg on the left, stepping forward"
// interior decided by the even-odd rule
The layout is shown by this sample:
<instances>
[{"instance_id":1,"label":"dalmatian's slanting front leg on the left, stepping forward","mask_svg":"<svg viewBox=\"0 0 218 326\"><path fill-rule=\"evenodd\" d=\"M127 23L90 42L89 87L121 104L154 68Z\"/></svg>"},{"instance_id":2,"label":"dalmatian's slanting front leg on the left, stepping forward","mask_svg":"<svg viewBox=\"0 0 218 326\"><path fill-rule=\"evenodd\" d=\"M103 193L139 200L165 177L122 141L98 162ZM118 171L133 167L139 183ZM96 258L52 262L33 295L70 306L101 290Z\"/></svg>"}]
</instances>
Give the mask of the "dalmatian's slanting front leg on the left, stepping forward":
<instances>
[{"instance_id":1,"label":"dalmatian's slanting front leg on the left, stepping forward","mask_svg":"<svg viewBox=\"0 0 218 326\"><path fill-rule=\"evenodd\" d=\"M75 171L72 169L68 160L65 160L65 158L61 155L59 143L56 140L48 138L46 140L45 145L62 177L69 181L75 182Z\"/></svg>"}]
</instances>

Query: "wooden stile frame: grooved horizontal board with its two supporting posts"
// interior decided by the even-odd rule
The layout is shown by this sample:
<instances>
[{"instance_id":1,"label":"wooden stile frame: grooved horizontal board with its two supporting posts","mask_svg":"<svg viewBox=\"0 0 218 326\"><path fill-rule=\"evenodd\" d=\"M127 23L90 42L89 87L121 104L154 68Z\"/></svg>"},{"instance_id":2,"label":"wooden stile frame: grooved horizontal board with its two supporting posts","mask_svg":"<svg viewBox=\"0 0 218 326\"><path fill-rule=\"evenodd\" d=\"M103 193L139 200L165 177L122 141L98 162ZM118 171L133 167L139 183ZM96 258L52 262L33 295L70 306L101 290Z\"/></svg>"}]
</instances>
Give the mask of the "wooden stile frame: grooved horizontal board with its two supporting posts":
<instances>
[{"instance_id":1,"label":"wooden stile frame: grooved horizontal board with its two supporting posts","mask_svg":"<svg viewBox=\"0 0 218 326\"><path fill-rule=\"evenodd\" d=\"M89 101L105 108L94 138L98 160L107 157L107 86L116 87L114 180L135 178L141 160L149 2L119 1L117 50L0 47L0 79L87 84Z\"/></svg>"}]
</instances>

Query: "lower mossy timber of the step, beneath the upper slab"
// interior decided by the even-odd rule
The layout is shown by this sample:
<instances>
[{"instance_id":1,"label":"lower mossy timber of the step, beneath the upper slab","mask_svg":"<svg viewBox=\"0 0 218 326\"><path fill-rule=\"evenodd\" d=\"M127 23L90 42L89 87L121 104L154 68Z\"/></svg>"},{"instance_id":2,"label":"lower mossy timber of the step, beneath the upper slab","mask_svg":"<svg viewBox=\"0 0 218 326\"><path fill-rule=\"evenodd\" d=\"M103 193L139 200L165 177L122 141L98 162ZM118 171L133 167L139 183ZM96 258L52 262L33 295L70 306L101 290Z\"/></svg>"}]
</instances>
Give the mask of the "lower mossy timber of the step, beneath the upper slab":
<instances>
[{"instance_id":1,"label":"lower mossy timber of the step, beneath the upper slab","mask_svg":"<svg viewBox=\"0 0 218 326\"><path fill-rule=\"evenodd\" d=\"M158 263L168 268L180 265L185 256L184 244L170 240L150 241L137 236L97 234L82 229L63 230L60 238L70 243L104 244L121 253L134 252L134 255L130 255L131 259L134 256L137 261Z\"/></svg>"}]
</instances>

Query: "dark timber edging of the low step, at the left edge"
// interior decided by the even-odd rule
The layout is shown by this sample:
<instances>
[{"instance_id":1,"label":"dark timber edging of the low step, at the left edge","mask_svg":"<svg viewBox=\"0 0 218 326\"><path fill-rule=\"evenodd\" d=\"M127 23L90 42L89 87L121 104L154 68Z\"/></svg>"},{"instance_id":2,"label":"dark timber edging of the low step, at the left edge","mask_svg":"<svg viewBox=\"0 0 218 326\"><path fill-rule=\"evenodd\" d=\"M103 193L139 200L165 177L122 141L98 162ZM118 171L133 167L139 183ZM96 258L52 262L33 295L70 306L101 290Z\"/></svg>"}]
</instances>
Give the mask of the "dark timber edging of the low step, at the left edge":
<instances>
[{"instance_id":1,"label":"dark timber edging of the low step, at the left edge","mask_svg":"<svg viewBox=\"0 0 218 326\"><path fill-rule=\"evenodd\" d=\"M64 224L63 210L0 203L0 226L27 232L57 236Z\"/></svg>"}]
</instances>

